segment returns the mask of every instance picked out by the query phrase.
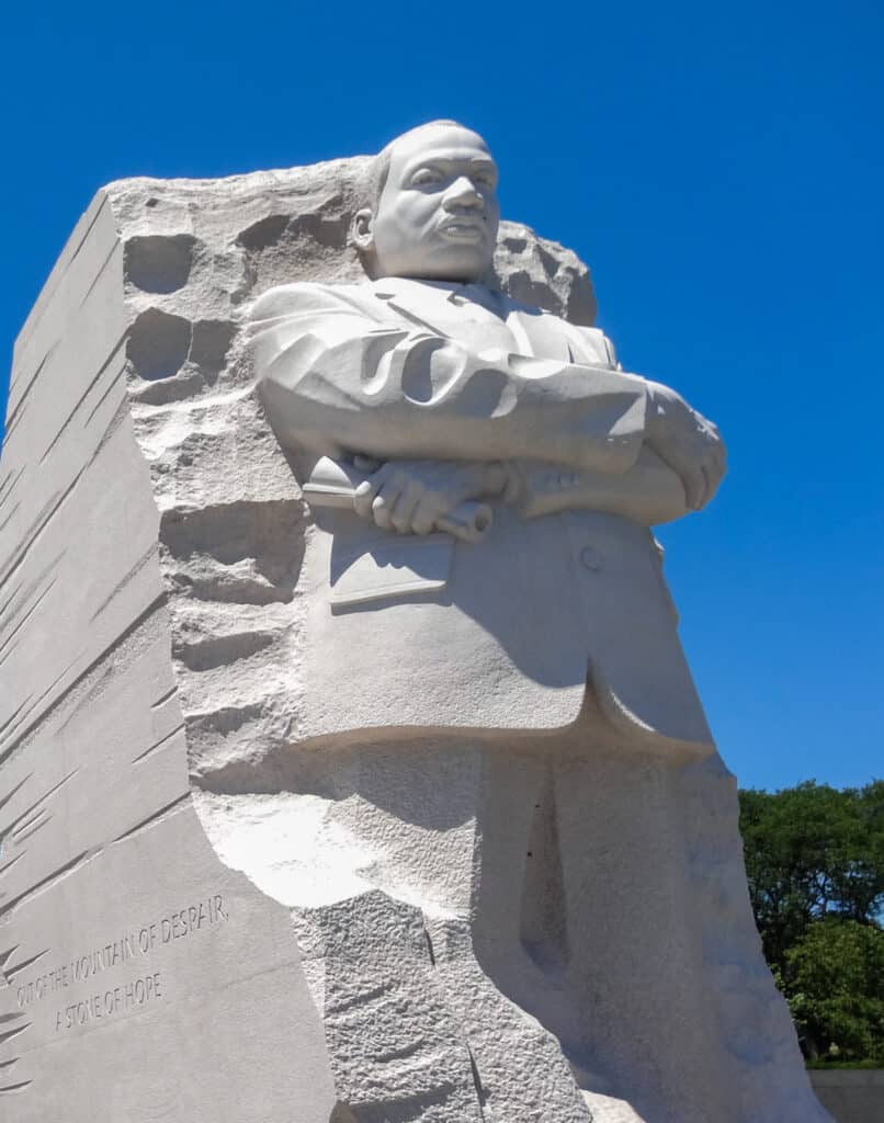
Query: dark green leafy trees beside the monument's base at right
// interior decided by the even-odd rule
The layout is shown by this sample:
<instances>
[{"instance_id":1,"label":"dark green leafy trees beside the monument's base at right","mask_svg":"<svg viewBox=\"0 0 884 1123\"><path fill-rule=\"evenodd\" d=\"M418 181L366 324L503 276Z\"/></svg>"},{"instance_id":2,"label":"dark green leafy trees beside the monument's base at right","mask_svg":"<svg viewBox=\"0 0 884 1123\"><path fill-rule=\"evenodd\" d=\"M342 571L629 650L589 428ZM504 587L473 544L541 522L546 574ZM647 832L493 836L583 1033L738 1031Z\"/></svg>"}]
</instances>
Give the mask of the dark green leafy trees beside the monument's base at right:
<instances>
[{"instance_id":1,"label":"dark green leafy trees beside the monument's base at right","mask_svg":"<svg viewBox=\"0 0 884 1123\"><path fill-rule=\"evenodd\" d=\"M740 793L764 952L805 1054L884 1063L884 780Z\"/></svg>"}]
</instances>

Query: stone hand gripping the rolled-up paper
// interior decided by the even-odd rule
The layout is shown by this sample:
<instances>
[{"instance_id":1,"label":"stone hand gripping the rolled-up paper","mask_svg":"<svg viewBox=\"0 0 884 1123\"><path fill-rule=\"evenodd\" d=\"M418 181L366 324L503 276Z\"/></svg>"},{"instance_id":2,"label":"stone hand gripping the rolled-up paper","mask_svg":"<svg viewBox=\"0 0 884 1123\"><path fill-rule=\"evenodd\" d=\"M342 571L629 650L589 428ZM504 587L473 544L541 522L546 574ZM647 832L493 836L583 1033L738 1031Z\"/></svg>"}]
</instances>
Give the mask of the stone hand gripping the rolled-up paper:
<instances>
[{"instance_id":1,"label":"stone hand gripping the rolled-up paper","mask_svg":"<svg viewBox=\"0 0 884 1123\"><path fill-rule=\"evenodd\" d=\"M465 500L500 495L507 484L499 463L388 460L359 484L353 505L384 530L429 535Z\"/></svg>"}]
</instances>

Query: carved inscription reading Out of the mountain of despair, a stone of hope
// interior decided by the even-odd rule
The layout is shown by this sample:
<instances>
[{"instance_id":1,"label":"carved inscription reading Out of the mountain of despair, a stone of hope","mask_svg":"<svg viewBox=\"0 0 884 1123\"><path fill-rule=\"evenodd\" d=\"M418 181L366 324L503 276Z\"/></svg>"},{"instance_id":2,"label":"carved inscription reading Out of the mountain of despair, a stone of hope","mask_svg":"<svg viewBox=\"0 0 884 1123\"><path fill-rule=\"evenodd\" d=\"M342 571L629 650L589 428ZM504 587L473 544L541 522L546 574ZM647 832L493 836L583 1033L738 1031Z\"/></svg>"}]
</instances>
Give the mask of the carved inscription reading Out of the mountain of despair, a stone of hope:
<instances>
[{"instance_id":1,"label":"carved inscription reading Out of the mountain of despair, a stone of hope","mask_svg":"<svg viewBox=\"0 0 884 1123\"><path fill-rule=\"evenodd\" d=\"M24 1010L49 996L57 997L69 987L89 983L90 993L84 998L55 1011L55 1030L62 1032L154 1003L165 993L162 973L158 970L131 973L119 983L116 979L108 979L107 983L102 979L99 983L97 976L176 940L222 924L228 915L220 893L165 913L121 933L119 939L110 940L100 948L82 951L57 967L22 982L16 992L18 1006Z\"/></svg>"}]
</instances>

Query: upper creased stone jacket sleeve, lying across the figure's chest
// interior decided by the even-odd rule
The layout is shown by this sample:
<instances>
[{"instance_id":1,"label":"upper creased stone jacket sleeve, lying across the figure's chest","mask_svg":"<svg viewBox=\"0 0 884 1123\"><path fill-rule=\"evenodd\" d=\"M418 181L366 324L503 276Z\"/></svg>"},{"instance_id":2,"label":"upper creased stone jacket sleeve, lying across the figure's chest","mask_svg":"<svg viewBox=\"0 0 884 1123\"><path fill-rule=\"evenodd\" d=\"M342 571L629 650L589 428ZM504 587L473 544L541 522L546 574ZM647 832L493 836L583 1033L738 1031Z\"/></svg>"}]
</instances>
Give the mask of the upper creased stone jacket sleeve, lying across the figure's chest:
<instances>
[{"instance_id":1,"label":"upper creased stone jacket sleeve, lying across the figure's chest","mask_svg":"<svg viewBox=\"0 0 884 1123\"><path fill-rule=\"evenodd\" d=\"M636 463L644 380L601 365L472 353L428 326L375 318L368 305L358 289L312 284L256 302L250 347L284 446L383 459L528 457L616 474Z\"/></svg>"}]
</instances>

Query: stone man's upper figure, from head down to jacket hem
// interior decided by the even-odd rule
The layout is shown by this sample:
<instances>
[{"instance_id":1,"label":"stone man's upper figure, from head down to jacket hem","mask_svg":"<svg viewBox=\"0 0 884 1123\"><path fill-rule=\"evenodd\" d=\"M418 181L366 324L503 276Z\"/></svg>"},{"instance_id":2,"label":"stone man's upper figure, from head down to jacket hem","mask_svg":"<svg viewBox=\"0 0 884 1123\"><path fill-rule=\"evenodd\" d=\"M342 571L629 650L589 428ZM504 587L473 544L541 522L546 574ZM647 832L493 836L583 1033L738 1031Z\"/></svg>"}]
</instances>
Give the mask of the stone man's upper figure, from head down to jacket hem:
<instances>
[{"instance_id":1,"label":"stone man's upper figure, from head down to jacket hem","mask_svg":"<svg viewBox=\"0 0 884 1123\"><path fill-rule=\"evenodd\" d=\"M304 734L562 729L589 666L628 736L703 755L646 528L711 499L723 445L674 391L623 374L601 331L481 283L496 176L474 133L407 134L355 218L375 280L283 285L253 309L267 417L316 510ZM329 468L346 485L366 457L381 464L326 509ZM431 533L476 500L493 504L481 544Z\"/></svg>"}]
</instances>

